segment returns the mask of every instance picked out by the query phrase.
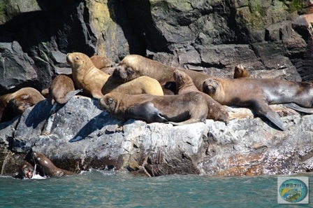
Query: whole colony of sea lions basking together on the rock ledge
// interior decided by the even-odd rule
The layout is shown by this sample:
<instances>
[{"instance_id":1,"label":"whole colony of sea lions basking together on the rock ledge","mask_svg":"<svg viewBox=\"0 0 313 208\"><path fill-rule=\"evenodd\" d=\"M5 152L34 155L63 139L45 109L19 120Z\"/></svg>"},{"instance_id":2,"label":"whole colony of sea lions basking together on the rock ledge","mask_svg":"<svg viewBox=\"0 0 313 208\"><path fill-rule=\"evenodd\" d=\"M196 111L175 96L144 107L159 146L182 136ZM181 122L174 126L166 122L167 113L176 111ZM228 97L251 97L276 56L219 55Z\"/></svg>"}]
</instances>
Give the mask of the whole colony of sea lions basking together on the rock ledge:
<instances>
[{"instance_id":1,"label":"whole colony of sea lions basking together on the rock ledge","mask_svg":"<svg viewBox=\"0 0 313 208\"><path fill-rule=\"evenodd\" d=\"M48 89L48 99L54 104L51 111L54 111L55 104L66 104L80 93L99 99L101 109L114 118L135 118L147 123L184 125L213 119L227 124L228 113L221 105L233 105L252 107L259 116L265 116L284 130L279 115L270 109L269 104L286 104L297 111L313 113L312 83L249 78L247 69L241 64L235 67L234 78L231 79L168 67L140 55L124 57L117 67L112 67L106 58L103 62L101 57L94 58L97 64L101 62L104 68L110 68L108 74L96 68L92 59L83 53L69 53L66 60L71 65L72 76L58 75L52 81ZM161 85L166 83L175 83L173 94L176 95L163 95ZM31 100L31 104L24 99L16 102L25 97L25 90L29 92L26 100ZM30 92L33 91L27 88L22 90L23 93L17 91L2 95L0 116L10 102L15 104L15 109L22 109L19 111L22 113L28 106L43 100L37 94L32 95ZM30 99L33 97L35 99ZM29 178L29 169L30 165L22 165L20 174Z\"/></svg>"}]
</instances>

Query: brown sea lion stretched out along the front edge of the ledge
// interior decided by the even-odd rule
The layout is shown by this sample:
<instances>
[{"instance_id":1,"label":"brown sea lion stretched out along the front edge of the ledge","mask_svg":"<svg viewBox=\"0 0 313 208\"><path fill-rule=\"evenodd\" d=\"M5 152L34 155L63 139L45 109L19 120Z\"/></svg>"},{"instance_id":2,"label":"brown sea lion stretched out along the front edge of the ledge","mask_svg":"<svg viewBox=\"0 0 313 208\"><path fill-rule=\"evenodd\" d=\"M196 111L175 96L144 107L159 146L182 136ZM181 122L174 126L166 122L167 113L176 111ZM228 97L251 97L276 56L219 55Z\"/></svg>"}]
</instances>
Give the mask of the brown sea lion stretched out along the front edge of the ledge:
<instances>
[{"instance_id":1,"label":"brown sea lion stretched out along the front edge of the ledge","mask_svg":"<svg viewBox=\"0 0 313 208\"><path fill-rule=\"evenodd\" d=\"M198 92L184 95L126 95L110 92L99 100L99 106L113 118L145 120L147 123L166 122L173 125L203 122L208 106Z\"/></svg>"}]
</instances>

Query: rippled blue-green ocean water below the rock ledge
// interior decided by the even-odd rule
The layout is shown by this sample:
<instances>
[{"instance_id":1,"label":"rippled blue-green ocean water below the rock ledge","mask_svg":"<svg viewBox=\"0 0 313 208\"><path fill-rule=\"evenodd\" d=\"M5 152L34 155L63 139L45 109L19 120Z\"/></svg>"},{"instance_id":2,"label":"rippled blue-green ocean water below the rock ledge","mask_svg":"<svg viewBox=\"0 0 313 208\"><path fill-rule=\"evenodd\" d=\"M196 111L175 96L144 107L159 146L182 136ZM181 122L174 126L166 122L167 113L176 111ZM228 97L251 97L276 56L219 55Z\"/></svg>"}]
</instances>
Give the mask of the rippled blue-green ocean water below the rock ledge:
<instances>
[{"instance_id":1,"label":"rippled blue-green ocean water below the rock ledge","mask_svg":"<svg viewBox=\"0 0 313 208\"><path fill-rule=\"evenodd\" d=\"M313 175L301 176L309 176L313 188ZM148 178L92 169L48 179L0 177L0 207L313 207L313 202L277 204L277 176Z\"/></svg>"}]
</instances>

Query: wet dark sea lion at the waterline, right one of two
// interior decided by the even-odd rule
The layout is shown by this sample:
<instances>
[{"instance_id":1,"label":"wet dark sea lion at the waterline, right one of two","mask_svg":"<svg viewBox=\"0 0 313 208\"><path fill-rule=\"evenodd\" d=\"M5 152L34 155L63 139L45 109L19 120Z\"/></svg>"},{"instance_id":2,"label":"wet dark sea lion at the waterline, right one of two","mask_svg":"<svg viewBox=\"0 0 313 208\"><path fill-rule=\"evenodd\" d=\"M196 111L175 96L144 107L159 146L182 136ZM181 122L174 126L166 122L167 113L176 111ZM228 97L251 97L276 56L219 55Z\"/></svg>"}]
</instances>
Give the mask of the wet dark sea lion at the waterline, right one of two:
<instances>
[{"instance_id":1,"label":"wet dark sea lion at the waterline, right one of two","mask_svg":"<svg viewBox=\"0 0 313 208\"><path fill-rule=\"evenodd\" d=\"M71 176L75 175L75 172L67 171L65 169L61 169L59 167L55 167L55 165L49 160L45 155L41 153L33 152L31 153L34 162L40 166L41 170L43 171L43 174L45 176Z\"/></svg>"}]
</instances>

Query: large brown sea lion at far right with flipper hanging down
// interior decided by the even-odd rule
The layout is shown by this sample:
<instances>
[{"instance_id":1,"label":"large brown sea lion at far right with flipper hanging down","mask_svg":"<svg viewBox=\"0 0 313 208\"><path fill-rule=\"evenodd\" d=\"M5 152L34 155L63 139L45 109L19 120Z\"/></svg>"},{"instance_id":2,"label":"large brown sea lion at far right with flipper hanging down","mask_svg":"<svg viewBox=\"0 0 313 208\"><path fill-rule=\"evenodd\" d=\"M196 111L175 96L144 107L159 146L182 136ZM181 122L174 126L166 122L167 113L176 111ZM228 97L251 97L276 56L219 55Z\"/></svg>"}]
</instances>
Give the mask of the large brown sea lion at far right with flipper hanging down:
<instances>
[{"instance_id":1,"label":"large brown sea lion at far right with flipper hanging down","mask_svg":"<svg viewBox=\"0 0 313 208\"><path fill-rule=\"evenodd\" d=\"M282 121L269 104L295 103L304 108L310 108L313 104L313 83L307 82L268 78L209 78L203 83L203 92L220 104L252 106L256 114L265 116L281 130L284 130Z\"/></svg>"}]
</instances>

